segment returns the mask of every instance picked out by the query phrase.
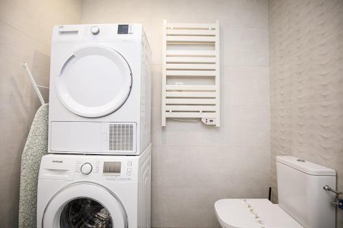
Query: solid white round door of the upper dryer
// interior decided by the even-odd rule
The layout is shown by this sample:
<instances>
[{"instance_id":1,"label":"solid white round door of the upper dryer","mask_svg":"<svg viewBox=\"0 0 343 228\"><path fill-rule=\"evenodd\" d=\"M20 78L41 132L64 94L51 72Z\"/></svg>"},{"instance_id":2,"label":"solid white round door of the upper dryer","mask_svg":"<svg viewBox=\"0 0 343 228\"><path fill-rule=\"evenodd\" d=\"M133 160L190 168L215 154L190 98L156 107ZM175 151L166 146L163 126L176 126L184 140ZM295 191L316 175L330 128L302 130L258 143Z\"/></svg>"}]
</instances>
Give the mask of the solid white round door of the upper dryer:
<instances>
[{"instance_id":1,"label":"solid white round door of the upper dryer","mask_svg":"<svg viewBox=\"0 0 343 228\"><path fill-rule=\"evenodd\" d=\"M115 112L130 94L132 73L123 56L104 45L75 49L60 67L56 92L79 116L97 118Z\"/></svg>"}]
</instances>

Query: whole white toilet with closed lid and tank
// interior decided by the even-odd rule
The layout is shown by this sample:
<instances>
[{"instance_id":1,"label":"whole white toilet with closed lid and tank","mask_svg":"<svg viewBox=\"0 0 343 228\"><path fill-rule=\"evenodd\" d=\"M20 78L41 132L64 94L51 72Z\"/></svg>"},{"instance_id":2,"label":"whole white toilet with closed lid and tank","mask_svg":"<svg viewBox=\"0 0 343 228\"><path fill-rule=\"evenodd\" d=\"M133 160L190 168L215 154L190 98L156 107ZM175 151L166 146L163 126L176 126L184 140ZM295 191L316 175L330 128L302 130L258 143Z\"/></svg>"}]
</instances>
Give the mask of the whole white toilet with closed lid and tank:
<instances>
[{"instance_id":1,"label":"whole white toilet with closed lid and tank","mask_svg":"<svg viewBox=\"0 0 343 228\"><path fill-rule=\"evenodd\" d=\"M268 199L220 199L215 214L223 228L335 228L331 168L293 156L276 157L279 204Z\"/></svg>"}]
</instances>

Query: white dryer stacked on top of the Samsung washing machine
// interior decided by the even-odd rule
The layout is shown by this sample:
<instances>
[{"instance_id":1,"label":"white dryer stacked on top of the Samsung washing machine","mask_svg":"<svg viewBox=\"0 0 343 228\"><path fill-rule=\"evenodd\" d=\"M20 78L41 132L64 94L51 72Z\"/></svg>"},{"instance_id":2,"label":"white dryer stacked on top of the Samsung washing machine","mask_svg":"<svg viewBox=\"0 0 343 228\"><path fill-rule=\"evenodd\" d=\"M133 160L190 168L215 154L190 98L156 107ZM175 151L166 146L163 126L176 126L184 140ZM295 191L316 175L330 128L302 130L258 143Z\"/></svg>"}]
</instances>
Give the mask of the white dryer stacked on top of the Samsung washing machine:
<instances>
[{"instance_id":1,"label":"white dryer stacked on top of the Samsung washing machine","mask_svg":"<svg viewBox=\"0 0 343 228\"><path fill-rule=\"evenodd\" d=\"M138 155L146 149L150 60L140 24L55 26L48 152Z\"/></svg>"}]
</instances>

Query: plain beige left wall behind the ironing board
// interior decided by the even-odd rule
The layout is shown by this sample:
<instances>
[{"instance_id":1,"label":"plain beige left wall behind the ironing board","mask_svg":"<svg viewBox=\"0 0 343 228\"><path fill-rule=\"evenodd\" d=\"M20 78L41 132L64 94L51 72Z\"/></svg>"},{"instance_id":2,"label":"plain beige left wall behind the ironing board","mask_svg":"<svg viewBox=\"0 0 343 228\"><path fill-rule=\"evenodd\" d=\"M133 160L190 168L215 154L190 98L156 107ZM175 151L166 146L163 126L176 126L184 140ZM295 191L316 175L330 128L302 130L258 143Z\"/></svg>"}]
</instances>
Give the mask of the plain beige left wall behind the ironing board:
<instances>
[{"instance_id":1,"label":"plain beige left wall behind the ironing board","mask_svg":"<svg viewBox=\"0 0 343 228\"><path fill-rule=\"evenodd\" d=\"M40 105L21 63L49 86L52 27L81 14L80 0L0 0L0 227L18 226L21 153Z\"/></svg>"}]
</instances>

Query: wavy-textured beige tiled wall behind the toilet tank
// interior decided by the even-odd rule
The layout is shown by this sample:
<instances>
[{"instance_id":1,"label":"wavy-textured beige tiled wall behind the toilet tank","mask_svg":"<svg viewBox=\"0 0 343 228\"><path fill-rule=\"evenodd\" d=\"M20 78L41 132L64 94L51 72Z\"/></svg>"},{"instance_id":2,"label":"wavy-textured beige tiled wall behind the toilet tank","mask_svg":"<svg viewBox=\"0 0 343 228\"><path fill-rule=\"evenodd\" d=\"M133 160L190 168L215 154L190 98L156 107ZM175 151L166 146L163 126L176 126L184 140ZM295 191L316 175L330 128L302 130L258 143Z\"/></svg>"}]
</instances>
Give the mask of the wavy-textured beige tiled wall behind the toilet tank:
<instances>
[{"instance_id":1,"label":"wavy-textured beige tiled wall behind the toilet tank","mask_svg":"<svg viewBox=\"0 0 343 228\"><path fill-rule=\"evenodd\" d=\"M334 168L342 190L343 1L275 0L269 10L272 199L277 155Z\"/></svg>"}]
</instances>

